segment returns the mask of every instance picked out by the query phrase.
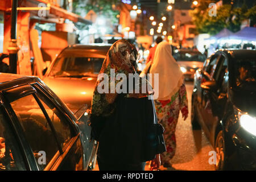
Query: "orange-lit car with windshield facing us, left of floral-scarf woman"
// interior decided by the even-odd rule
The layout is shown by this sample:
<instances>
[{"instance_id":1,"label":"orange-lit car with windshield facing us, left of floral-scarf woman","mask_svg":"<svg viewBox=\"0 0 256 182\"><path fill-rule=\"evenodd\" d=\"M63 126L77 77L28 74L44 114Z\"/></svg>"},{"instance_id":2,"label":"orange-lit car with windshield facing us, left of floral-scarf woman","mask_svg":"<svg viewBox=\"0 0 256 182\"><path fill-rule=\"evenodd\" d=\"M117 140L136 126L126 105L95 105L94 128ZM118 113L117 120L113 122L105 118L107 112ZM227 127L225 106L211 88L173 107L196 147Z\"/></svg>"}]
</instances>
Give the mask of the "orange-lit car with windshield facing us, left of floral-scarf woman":
<instances>
[{"instance_id":1,"label":"orange-lit car with windshield facing us, left of floral-scarf woman","mask_svg":"<svg viewBox=\"0 0 256 182\"><path fill-rule=\"evenodd\" d=\"M75 44L64 48L49 66L43 81L71 109L90 107L94 86L110 44Z\"/></svg>"}]
</instances>

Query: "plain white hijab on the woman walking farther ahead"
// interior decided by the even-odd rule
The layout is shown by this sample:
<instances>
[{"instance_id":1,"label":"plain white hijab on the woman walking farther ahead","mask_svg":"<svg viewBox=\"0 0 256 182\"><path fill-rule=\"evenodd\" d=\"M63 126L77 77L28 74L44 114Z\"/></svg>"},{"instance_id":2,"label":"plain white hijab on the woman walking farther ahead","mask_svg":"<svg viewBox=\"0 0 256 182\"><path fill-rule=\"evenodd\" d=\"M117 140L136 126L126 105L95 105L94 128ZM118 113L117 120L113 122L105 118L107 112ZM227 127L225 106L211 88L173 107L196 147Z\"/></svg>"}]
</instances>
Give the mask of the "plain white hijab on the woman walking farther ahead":
<instances>
[{"instance_id":1,"label":"plain white hijab on the woman walking farther ahead","mask_svg":"<svg viewBox=\"0 0 256 182\"><path fill-rule=\"evenodd\" d=\"M172 56L170 44L160 42L155 50L154 61L150 68L150 73L159 73L159 89L155 89L158 100L169 100L180 89L183 84L183 75L180 66ZM152 76L152 86L154 86L154 75Z\"/></svg>"}]
</instances>

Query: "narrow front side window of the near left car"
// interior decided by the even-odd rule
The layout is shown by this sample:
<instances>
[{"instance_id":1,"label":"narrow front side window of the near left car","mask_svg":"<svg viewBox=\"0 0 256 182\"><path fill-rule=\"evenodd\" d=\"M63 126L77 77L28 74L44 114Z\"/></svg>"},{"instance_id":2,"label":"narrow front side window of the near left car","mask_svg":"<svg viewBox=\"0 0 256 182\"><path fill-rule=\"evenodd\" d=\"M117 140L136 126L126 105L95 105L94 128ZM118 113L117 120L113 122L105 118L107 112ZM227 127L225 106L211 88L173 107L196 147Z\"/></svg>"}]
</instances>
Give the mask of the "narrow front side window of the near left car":
<instances>
[{"instance_id":1,"label":"narrow front side window of the near left car","mask_svg":"<svg viewBox=\"0 0 256 182\"><path fill-rule=\"evenodd\" d=\"M56 135L58 138L58 142L60 142L60 146L64 150L65 145L72 138L72 130L68 124L67 119L64 117L62 113L53 105L50 101L43 97L42 94L36 93L40 102L42 102L44 109L52 121L53 127L56 131Z\"/></svg>"}]
</instances>

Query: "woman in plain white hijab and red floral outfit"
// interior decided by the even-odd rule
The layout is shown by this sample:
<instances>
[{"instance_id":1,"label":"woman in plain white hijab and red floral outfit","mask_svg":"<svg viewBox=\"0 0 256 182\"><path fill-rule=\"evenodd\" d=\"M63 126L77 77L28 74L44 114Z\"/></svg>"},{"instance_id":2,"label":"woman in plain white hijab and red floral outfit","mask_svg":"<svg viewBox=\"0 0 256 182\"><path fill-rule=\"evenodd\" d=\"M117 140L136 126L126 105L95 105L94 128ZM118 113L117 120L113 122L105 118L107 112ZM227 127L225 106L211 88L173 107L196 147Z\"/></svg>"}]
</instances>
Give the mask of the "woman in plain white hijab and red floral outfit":
<instances>
[{"instance_id":1,"label":"woman in plain white hijab and red floral outfit","mask_svg":"<svg viewBox=\"0 0 256 182\"><path fill-rule=\"evenodd\" d=\"M159 74L159 93L154 101L158 121L165 129L163 135L167 150L160 156L163 166L171 167L170 159L173 158L176 150L175 129L179 111L185 120L188 117L188 100L182 72L172 57L171 46L167 42L158 44L150 73Z\"/></svg>"}]
</instances>

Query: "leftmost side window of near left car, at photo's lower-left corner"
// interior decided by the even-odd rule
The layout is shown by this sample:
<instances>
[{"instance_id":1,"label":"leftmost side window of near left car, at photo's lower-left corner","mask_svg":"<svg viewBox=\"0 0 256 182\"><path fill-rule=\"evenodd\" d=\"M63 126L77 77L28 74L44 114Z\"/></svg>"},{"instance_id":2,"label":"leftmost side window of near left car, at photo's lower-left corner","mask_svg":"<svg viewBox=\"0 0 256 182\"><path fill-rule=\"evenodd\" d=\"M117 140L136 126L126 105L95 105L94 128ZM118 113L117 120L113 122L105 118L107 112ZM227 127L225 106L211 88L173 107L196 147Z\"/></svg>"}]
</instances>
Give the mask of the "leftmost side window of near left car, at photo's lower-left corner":
<instances>
[{"instance_id":1,"label":"leftmost side window of near left car, at photo's lower-left corner","mask_svg":"<svg viewBox=\"0 0 256 182\"><path fill-rule=\"evenodd\" d=\"M0 110L0 171L26 170L8 120Z\"/></svg>"}]
</instances>

